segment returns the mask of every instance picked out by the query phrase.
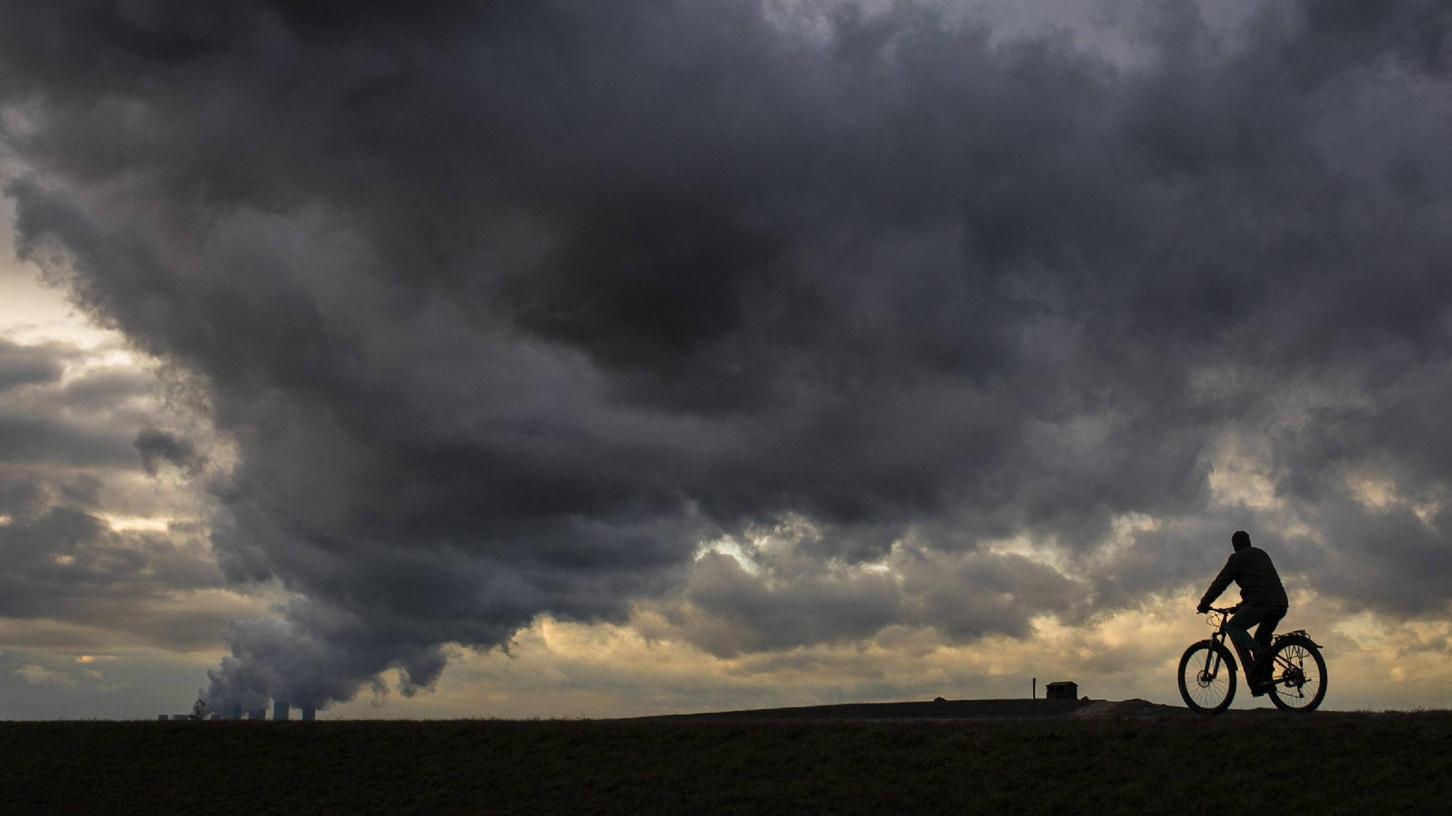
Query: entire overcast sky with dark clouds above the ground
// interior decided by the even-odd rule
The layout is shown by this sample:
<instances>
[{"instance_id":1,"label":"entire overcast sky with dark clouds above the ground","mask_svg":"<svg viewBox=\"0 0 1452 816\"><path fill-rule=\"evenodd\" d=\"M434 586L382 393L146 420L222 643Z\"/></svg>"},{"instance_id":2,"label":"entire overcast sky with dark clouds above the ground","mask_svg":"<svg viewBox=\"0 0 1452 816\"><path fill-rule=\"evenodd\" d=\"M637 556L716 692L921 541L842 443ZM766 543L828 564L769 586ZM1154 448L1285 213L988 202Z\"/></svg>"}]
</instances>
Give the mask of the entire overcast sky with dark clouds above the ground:
<instances>
[{"instance_id":1,"label":"entire overcast sky with dark clouds above the ground","mask_svg":"<svg viewBox=\"0 0 1452 816\"><path fill-rule=\"evenodd\" d=\"M0 717L1449 706L1449 30L0 3Z\"/></svg>"}]
</instances>

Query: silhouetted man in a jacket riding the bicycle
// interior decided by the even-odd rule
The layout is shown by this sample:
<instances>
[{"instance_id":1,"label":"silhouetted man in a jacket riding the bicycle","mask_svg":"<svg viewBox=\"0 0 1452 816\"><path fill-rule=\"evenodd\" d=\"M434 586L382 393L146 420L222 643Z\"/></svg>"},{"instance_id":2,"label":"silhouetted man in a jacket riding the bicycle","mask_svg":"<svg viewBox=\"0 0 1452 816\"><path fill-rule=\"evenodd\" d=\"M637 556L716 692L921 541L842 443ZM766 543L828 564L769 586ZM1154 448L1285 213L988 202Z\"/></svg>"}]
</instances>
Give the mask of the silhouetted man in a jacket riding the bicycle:
<instances>
[{"instance_id":1,"label":"silhouetted man in a jacket riding the bicycle","mask_svg":"<svg viewBox=\"0 0 1452 816\"><path fill-rule=\"evenodd\" d=\"M1240 587L1240 605L1236 608L1234 617L1225 623L1225 632L1230 633L1230 639L1237 646L1255 658L1256 662L1253 666L1247 666L1246 675L1252 678L1250 693L1259 697L1266 693L1263 669L1269 668L1269 661L1265 658L1270 655L1270 636L1275 635L1275 626L1285 617L1291 601L1285 597L1281 574L1270 563L1270 556L1265 550L1250 546L1249 533L1236 530L1236 534L1230 537L1230 544L1236 552L1230 553L1224 569L1210 582L1210 589L1205 589L1205 597L1199 600L1195 611L1201 614L1210 611L1210 604L1225 591L1231 581ZM1260 626L1256 627L1256 635L1252 637L1250 627L1257 623Z\"/></svg>"}]
</instances>

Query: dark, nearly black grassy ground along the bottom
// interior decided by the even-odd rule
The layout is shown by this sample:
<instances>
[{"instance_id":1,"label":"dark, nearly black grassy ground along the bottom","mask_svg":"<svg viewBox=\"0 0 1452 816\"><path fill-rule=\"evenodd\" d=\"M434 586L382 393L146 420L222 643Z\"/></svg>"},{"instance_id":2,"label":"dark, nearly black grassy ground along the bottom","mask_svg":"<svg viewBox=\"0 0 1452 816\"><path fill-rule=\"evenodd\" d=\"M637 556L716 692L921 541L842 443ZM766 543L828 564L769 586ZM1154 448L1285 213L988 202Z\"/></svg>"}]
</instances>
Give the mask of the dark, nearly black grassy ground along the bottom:
<instances>
[{"instance_id":1,"label":"dark, nearly black grassy ground along the bottom","mask_svg":"<svg viewBox=\"0 0 1452 816\"><path fill-rule=\"evenodd\" d=\"M7 813L1449 813L1452 714L0 723Z\"/></svg>"}]
</instances>

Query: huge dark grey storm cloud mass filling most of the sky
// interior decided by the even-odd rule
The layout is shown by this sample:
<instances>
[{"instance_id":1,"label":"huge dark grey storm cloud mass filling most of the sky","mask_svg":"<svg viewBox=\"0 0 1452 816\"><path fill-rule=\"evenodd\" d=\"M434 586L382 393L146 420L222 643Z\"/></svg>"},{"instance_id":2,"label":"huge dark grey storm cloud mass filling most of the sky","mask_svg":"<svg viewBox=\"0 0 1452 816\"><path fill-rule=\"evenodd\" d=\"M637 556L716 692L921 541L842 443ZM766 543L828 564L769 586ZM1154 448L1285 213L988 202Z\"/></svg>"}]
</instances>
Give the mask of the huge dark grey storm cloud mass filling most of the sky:
<instances>
[{"instance_id":1,"label":"huge dark grey storm cloud mass filling most of the sky","mask_svg":"<svg viewBox=\"0 0 1452 816\"><path fill-rule=\"evenodd\" d=\"M623 619L788 515L826 563L916 530L963 592L909 614L807 576L790 607L707 560L722 649L1083 614L973 555L1019 533L1134 604L1218 560L1178 555L1214 546L1188 537L1228 431L1327 523L1308 582L1445 607L1408 572L1452 566L1436 526L1372 589L1333 526L1353 469L1449 489L1413 399L1448 382L1445 4L1268 3L1225 36L1146 6L1133 65L826 9L6 9L22 250L199 375L237 444L218 556L302 597L218 693L427 685L441 643ZM1131 513L1179 520L1128 547L1156 563L1096 560Z\"/></svg>"}]
</instances>

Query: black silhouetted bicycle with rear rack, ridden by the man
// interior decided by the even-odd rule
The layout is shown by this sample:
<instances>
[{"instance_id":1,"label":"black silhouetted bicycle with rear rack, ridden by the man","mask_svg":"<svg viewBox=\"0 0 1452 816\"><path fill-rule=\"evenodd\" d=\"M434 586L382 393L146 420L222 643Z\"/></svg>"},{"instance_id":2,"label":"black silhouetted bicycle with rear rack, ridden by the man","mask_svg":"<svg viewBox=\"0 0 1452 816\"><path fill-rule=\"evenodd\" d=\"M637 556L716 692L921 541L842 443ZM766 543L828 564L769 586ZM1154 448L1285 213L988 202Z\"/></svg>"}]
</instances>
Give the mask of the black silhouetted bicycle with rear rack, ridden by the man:
<instances>
[{"instance_id":1,"label":"black silhouetted bicycle with rear rack, ridden by the man","mask_svg":"<svg viewBox=\"0 0 1452 816\"><path fill-rule=\"evenodd\" d=\"M1234 656L1225 648L1228 639L1225 623L1236 608L1211 608L1207 620L1215 627L1215 633L1207 640L1191 643L1180 656L1180 697L1195 713L1218 714L1230 707L1230 701L1236 698L1236 656L1246 666L1246 682L1256 682L1250 677L1250 655L1234 640L1230 640L1236 650ZM1273 662L1266 681L1270 701L1285 711L1316 710L1326 698L1326 659L1321 656L1321 645L1311 640L1304 629L1284 632L1270 640L1270 658Z\"/></svg>"}]
</instances>

